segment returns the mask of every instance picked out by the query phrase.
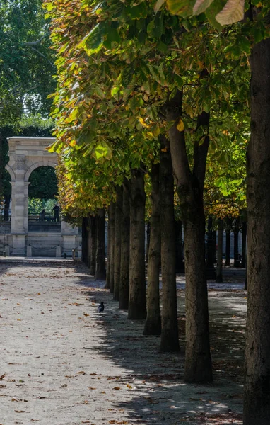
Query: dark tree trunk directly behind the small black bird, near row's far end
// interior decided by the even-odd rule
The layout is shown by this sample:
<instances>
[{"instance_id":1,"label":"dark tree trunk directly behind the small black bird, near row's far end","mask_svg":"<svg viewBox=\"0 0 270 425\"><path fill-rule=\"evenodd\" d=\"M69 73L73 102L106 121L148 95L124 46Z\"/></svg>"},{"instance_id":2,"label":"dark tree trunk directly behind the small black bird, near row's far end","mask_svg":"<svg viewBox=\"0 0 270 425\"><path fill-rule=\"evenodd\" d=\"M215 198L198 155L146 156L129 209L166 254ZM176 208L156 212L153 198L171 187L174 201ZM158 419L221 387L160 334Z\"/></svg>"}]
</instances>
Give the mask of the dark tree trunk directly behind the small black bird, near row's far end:
<instances>
[{"instance_id":1,"label":"dark tree trunk directly behind the small black bird, near row's far end","mask_svg":"<svg viewBox=\"0 0 270 425\"><path fill-rule=\"evenodd\" d=\"M95 260L95 280L106 280L104 208L100 208L100 210L98 210L97 218L97 254Z\"/></svg>"}]
</instances>

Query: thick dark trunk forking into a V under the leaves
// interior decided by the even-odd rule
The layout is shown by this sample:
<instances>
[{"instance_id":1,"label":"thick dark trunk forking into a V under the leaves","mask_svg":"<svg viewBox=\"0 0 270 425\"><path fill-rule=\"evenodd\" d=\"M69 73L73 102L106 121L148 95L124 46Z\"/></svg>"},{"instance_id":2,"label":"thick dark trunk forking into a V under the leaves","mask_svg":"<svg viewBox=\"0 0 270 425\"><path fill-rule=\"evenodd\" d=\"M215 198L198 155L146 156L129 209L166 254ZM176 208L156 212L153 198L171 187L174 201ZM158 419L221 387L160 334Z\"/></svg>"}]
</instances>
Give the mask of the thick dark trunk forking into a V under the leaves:
<instances>
[{"instance_id":1,"label":"thick dark trunk forking into a V under the leaves","mask_svg":"<svg viewBox=\"0 0 270 425\"><path fill-rule=\"evenodd\" d=\"M207 72L205 72L207 78ZM203 78L201 72L201 78ZM193 170L189 168L184 128L181 124L182 93L168 101L167 120L175 124L169 130L172 166L177 182L184 223L184 259L186 272L186 382L213 380L209 342L209 312L205 265L204 179L209 136L194 143ZM209 124L209 114L198 117L197 128ZM178 128L182 131L179 131Z\"/></svg>"}]
</instances>

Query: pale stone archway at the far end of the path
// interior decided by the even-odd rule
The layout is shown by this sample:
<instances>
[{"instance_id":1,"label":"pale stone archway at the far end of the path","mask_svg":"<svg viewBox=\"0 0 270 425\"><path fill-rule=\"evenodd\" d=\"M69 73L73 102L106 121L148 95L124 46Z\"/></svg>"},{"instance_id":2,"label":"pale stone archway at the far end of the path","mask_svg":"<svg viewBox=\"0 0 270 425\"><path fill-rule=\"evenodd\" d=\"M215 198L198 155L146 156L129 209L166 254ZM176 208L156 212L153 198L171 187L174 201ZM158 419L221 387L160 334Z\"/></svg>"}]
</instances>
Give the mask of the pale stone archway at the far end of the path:
<instances>
[{"instance_id":1,"label":"pale stone archway at the far end of the path","mask_svg":"<svg viewBox=\"0 0 270 425\"><path fill-rule=\"evenodd\" d=\"M25 254L26 245L31 246L33 234L28 234L28 186L32 171L40 166L57 166L57 154L46 148L54 142L54 137L10 137L9 162L6 170L11 175L11 236L13 254ZM44 238L46 235L43 235ZM48 236L48 235L47 235ZM68 223L61 223L61 235L55 244L61 245L62 251L71 251L78 243L78 229ZM41 234L40 234L41 237ZM41 240L39 237L39 240ZM32 238L32 239L31 239ZM45 244L48 238L44 239Z\"/></svg>"}]
</instances>

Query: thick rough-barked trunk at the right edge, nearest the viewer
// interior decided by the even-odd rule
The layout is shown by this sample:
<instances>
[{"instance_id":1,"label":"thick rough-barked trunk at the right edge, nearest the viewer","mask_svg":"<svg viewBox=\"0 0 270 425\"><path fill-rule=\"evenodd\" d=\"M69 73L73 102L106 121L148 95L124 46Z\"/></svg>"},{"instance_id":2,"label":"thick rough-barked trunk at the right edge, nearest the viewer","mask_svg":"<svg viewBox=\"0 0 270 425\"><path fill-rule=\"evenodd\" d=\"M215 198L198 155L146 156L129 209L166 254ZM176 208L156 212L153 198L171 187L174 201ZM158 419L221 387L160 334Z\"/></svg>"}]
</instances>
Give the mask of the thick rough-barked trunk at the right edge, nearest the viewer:
<instances>
[{"instance_id":1,"label":"thick rough-barked trunk at the right edge, nearest the viewer","mask_svg":"<svg viewBox=\"0 0 270 425\"><path fill-rule=\"evenodd\" d=\"M270 424L270 38L250 58L244 425Z\"/></svg>"}]
</instances>

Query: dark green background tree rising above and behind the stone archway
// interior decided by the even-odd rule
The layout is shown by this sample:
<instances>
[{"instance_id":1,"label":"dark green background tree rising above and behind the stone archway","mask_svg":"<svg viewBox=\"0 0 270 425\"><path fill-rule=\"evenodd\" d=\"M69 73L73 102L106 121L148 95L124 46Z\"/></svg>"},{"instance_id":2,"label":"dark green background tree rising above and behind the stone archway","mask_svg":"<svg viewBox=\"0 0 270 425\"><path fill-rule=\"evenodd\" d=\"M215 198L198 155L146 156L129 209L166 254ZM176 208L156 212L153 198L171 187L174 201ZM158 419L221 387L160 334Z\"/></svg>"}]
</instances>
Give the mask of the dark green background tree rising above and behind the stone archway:
<instances>
[{"instance_id":1,"label":"dark green background tree rising above and behind the stone archway","mask_svg":"<svg viewBox=\"0 0 270 425\"><path fill-rule=\"evenodd\" d=\"M47 116L54 91L54 52L41 0L4 0L0 5L0 125L23 111Z\"/></svg>"}]
</instances>

